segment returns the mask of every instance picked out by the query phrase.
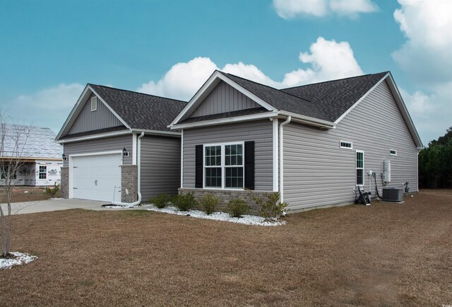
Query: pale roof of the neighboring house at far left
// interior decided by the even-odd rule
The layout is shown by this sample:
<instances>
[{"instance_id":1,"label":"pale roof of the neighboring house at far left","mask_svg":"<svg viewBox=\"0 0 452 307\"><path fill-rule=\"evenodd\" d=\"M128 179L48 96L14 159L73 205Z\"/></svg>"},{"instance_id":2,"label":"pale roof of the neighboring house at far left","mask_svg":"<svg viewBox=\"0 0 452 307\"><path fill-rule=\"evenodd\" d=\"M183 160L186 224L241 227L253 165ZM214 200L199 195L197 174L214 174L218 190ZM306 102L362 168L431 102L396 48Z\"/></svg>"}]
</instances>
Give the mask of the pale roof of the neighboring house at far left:
<instances>
[{"instance_id":1,"label":"pale roof of the neighboring house at far left","mask_svg":"<svg viewBox=\"0 0 452 307\"><path fill-rule=\"evenodd\" d=\"M55 143L54 132L47 127L5 124L2 158L61 159L63 148ZM3 135L3 132L2 132ZM18 141L16 142L16 139Z\"/></svg>"}]
</instances>

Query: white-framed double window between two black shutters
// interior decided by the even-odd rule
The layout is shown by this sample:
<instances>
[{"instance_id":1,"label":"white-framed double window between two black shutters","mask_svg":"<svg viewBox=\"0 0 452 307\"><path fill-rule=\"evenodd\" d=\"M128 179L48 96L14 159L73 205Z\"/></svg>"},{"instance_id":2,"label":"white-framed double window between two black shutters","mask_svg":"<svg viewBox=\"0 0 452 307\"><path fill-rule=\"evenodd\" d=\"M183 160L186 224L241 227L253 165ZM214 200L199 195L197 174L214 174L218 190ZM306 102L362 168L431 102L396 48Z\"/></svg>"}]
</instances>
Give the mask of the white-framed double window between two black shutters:
<instances>
[{"instance_id":1,"label":"white-framed double window between two black shutters","mask_svg":"<svg viewBox=\"0 0 452 307\"><path fill-rule=\"evenodd\" d=\"M204 187L243 188L243 157L243 143L204 146Z\"/></svg>"}]
</instances>

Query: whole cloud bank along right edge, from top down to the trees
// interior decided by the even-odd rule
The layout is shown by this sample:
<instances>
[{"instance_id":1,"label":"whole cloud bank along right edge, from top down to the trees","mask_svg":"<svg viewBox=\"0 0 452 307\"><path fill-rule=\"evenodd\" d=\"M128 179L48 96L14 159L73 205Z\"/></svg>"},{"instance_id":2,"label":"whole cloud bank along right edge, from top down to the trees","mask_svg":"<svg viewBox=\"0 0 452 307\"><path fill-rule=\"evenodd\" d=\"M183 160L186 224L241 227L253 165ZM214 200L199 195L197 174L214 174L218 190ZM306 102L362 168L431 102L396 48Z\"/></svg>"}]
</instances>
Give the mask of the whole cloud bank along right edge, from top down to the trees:
<instances>
[{"instance_id":1,"label":"whole cloud bank along right edge, from top down to the trees","mask_svg":"<svg viewBox=\"0 0 452 307\"><path fill-rule=\"evenodd\" d=\"M400 91L424 144L452 125L452 1L398 0L394 19L406 42L393 59L417 82Z\"/></svg>"}]
</instances>

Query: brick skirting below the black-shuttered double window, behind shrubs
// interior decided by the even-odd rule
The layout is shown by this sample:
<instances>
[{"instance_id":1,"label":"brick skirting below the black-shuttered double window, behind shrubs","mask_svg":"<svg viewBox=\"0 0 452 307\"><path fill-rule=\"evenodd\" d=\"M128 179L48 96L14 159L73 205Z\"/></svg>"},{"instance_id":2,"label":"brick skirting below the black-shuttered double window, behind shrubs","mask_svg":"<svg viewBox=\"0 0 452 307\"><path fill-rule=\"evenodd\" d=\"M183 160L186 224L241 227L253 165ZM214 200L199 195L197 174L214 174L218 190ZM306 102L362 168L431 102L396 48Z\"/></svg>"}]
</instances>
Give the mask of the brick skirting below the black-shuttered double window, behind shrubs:
<instances>
[{"instance_id":1,"label":"brick skirting below the black-shuttered double window, behind shrubs","mask_svg":"<svg viewBox=\"0 0 452 307\"><path fill-rule=\"evenodd\" d=\"M234 198L244 199L246 204L251 207L250 214L259 215L260 207L256 202L251 199L251 197L264 197L264 193L273 193L272 191L251 191L251 190L208 190L208 189L192 189L187 187L179 187L179 194L186 194L189 192L194 193L194 197L199 202L201 197L206 194L215 195L220 198L220 205L215 210L216 211L225 211L227 209L227 202ZM196 208L201 209L201 208Z\"/></svg>"}]
</instances>

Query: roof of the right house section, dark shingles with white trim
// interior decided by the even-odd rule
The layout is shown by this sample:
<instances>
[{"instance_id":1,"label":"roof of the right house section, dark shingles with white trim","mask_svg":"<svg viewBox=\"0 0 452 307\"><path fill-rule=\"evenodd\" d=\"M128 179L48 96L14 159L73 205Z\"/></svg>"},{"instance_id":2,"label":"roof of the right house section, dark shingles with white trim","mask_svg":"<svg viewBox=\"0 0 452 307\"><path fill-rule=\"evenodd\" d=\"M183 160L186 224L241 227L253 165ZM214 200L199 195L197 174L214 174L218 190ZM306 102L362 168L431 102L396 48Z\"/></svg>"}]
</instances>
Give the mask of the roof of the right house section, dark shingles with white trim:
<instances>
[{"instance_id":1,"label":"roof of the right house section, dark shingles with white trim","mask_svg":"<svg viewBox=\"0 0 452 307\"><path fill-rule=\"evenodd\" d=\"M198 108L198 105L214 90L218 83L225 81L265 109L262 109L259 112L260 114L238 112L233 115L234 121L256 120L265 116L291 116L292 120L304 124L327 129L335 128L336 124L345 115L353 110L376 86L379 86L385 80L415 140L415 144L418 148L421 148L422 141L420 140L419 134L417 134L415 125L411 120L410 114L389 71L278 90L217 70L201 86L184 110L169 124L169 127L172 129L183 129L185 127L224 123L225 120L223 117L232 116L232 114L207 115L209 118L205 116L194 120L191 120L189 115ZM213 120L214 118L220 120Z\"/></svg>"}]
</instances>

